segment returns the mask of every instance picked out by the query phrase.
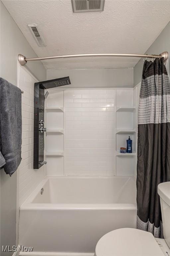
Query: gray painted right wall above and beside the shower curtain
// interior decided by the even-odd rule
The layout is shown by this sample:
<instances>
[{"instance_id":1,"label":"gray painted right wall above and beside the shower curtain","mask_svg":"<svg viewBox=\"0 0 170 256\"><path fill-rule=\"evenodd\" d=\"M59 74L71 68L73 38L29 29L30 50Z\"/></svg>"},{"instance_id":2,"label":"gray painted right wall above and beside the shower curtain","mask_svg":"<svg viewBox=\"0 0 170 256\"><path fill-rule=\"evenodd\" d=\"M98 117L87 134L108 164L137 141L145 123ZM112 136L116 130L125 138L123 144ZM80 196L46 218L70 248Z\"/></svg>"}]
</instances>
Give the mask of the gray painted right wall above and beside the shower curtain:
<instances>
[{"instance_id":1,"label":"gray painted right wall above and beside the shower curtain","mask_svg":"<svg viewBox=\"0 0 170 256\"><path fill-rule=\"evenodd\" d=\"M160 54L162 52L169 52L169 63L170 63L170 22L166 25L164 30L160 33L157 39L146 51L146 54ZM134 86L141 81L143 69L143 58L134 67ZM170 68L169 68L170 76Z\"/></svg>"}]
</instances>

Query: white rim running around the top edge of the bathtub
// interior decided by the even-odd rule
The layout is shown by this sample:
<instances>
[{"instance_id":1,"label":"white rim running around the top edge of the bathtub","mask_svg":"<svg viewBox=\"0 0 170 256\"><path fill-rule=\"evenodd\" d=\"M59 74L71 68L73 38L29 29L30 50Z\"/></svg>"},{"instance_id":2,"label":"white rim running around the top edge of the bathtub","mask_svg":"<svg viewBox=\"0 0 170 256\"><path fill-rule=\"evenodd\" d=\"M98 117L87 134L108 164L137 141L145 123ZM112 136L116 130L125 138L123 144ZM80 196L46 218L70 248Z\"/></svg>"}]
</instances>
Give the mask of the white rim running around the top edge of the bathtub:
<instances>
[{"instance_id":1,"label":"white rim running around the top edge of the bathtub","mask_svg":"<svg viewBox=\"0 0 170 256\"><path fill-rule=\"evenodd\" d=\"M40 184L35 188L35 190L30 194L30 196L25 200L25 202L20 206L20 210L136 210L136 203L103 203L103 204L80 204L80 203L32 203L35 196L40 192L41 188L49 179L110 179L110 178L125 178L132 179L135 182L134 176L124 175L124 176L59 176L59 175L46 175L45 178L40 182Z\"/></svg>"}]
</instances>

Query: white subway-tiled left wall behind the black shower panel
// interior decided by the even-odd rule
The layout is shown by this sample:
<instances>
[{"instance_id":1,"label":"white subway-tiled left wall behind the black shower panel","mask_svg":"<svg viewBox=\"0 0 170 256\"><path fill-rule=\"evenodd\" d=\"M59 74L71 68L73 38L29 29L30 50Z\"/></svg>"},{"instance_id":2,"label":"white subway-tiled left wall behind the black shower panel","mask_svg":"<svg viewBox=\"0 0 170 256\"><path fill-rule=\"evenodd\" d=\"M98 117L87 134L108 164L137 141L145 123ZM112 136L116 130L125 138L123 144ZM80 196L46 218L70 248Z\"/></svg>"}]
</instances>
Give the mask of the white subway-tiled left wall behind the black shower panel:
<instances>
[{"instance_id":1,"label":"white subway-tiled left wall behind the black shower panel","mask_svg":"<svg viewBox=\"0 0 170 256\"><path fill-rule=\"evenodd\" d=\"M42 181L44 167L33 169L34 148L34 80L22 67L20 68L19 87L22 94L22 161L19 173L19 206L30 196L36 186ZM25 81L25 82L24 82Z\"/></svg>"}]
</instances>

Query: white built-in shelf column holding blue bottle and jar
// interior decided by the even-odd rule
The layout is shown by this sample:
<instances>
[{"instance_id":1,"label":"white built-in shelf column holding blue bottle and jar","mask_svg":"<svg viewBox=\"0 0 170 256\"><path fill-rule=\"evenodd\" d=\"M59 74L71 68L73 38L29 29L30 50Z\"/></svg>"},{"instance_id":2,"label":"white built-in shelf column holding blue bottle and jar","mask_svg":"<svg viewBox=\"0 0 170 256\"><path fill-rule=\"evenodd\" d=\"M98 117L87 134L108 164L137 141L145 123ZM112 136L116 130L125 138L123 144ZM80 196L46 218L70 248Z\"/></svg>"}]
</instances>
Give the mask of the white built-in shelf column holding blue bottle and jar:
<instances>
[{"instance_id":1,"label":"white built-in shelf column holding blue bottle and jar","mask_svg":"<svg viewBox=\"0 0 170 256\"><path fill-rule=\"evenodd\" d=\"M116 90L115 161L117 175L133 175L136 163L136 107L133 105L133 90ZM120 153L120 147L127 148L132 140L132 153Z\"/></svg>"}]
</instances>

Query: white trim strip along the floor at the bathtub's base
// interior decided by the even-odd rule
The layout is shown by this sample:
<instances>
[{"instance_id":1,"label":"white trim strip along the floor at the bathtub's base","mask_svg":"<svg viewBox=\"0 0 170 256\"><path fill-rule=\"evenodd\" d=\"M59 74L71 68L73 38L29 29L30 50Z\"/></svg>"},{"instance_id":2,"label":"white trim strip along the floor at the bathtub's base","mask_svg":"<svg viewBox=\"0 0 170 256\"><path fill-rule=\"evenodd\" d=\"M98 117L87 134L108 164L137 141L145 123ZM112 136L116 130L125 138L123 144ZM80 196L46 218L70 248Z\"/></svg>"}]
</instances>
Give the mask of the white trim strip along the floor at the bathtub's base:
<instances>
[{"instance_id":1,"label":"white trim strip along the floor at the bathtub's base","mask_svg":"<svg viewBox=\"0 0 170 256\"><path fill-rule=\"evenodd\" d=\"M94 256L94 253L79 253L79 252L20 252L19 255L20 256Z\"/></svg>"}]
</instances>

